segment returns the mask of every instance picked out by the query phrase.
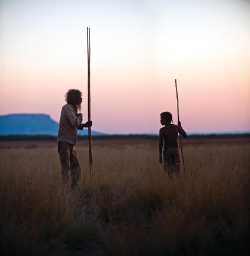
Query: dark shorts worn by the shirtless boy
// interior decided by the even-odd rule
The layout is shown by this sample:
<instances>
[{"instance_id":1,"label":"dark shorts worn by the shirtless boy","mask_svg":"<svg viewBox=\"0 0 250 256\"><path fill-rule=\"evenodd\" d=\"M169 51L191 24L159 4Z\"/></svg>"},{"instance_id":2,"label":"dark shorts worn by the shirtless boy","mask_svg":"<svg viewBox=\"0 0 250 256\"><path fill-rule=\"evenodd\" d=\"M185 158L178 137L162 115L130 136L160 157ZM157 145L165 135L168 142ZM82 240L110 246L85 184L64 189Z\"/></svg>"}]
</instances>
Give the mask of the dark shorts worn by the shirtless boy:
<instances>
[{"instance_id":1,"label":"dark shorts worn by the shirtless boy","mask_svg":"<svg viewBox=\"0 0 250 256\"><path fill-rule=\"evenodd\" d=\"M164 147L164 171L168 173L179 173L179 148L176 147Z\"/></svg>"}]
</instances>

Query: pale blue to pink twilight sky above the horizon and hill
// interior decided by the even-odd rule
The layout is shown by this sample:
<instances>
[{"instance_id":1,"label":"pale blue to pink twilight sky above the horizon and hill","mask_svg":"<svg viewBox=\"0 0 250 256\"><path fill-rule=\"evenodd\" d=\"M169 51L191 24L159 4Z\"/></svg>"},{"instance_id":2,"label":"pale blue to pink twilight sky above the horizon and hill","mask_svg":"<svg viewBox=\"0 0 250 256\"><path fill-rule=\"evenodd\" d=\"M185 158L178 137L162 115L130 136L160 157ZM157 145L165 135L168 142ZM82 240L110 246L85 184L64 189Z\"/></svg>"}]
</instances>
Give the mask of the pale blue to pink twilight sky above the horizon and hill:
<instances>
[{"instance_id":1,"label":"pale blue to pink twilight sky above the horizon and hill","mask_svg":"<svg viewBox=\"0 0 250 256\"><path fill-rule=\"evenodd\" d=\"M59 122L70 88L107 134L156 134L159 114L188 133L250 131L249 0L1 0L0 115ZM15 120L14 120L15 122Z\"/></svg>"}]
</instances>

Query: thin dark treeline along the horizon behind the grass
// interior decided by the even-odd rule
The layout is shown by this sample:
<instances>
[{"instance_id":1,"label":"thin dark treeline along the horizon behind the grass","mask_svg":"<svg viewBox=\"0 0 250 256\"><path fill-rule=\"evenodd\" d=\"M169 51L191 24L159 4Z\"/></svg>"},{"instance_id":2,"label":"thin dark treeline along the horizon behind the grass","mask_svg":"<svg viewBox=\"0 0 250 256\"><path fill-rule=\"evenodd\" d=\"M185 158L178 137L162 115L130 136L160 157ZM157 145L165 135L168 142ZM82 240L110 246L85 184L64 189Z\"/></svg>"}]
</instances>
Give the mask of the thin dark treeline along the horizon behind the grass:
<instances>
[{"instance_id":1,"label":"thin dark treeline along the horizon behind the grass","mask_svg":"<svg viewBox=\"0 0 250 256\"><path fill-rule=\"evenodd\" d=\"M250 138L250 133L245 134L192 134L186 139L237 139ZM56 141L53 135L0 135L0 141ZM95 135L92 140L98 139L152 139L158 140L158 135L128 134L128 135ZM78 140L88 140L88 135L78 135Z\"/></svg>"}]
</instances>

